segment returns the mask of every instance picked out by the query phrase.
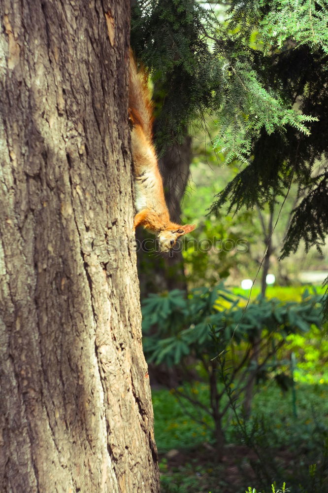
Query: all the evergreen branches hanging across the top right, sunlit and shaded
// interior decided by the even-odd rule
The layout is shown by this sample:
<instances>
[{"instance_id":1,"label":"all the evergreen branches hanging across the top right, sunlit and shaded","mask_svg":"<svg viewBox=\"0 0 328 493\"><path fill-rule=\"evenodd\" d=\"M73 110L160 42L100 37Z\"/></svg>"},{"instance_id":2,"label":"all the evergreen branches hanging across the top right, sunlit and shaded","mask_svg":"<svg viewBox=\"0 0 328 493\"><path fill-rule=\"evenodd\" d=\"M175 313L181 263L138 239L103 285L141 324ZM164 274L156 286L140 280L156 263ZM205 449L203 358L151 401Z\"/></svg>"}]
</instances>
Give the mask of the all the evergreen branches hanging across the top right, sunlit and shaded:
<instances>
[{"instance_id":1,"label":"all the evergreen branches hanging across the top right, sunlit and shaded","mask_svg":"<svg viewBox=\"0 0 328 493\"><path fill-rule=\"evenodd\" d=\"M328 1L222 2L220 21L195 0L138 0L131 44L160 85L159 152L209 113L213 141L240 173L212 211L274 204L294 181L295 208L282 256L320 250L328 233ZM320 164L319 164L320 161Z\"/></svg>"}]
</instances>

